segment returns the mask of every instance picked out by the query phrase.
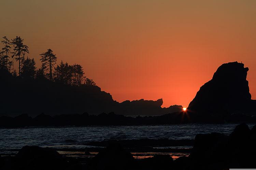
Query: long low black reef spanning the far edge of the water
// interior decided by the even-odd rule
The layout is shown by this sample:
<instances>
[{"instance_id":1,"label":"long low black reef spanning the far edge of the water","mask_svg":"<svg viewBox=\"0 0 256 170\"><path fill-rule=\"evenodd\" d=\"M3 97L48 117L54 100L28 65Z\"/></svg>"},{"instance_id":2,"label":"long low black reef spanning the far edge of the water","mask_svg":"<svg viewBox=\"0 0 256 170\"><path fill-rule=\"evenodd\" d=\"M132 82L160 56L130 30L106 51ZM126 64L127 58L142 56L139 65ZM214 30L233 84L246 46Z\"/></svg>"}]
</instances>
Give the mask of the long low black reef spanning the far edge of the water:
<instances>
[{"instance_id":1,"label":"long low black reef spanning the far edge of the water","mask_svg":"<svg viewBox=\"0 0 256 170\"><path fill-rule=\"evenodd\" d=\"M0 127L20 128L27 126L88 126L88 125L159 125L181 123L256 123L256 117L245 114L222 116L197 115L186 112L175 112L161 116L129 117L116 115L113 112L99 115L67 114L50 116L40 114L34 118L27 114L16 117L0 117Z\"/></svg>"}]
</instances>

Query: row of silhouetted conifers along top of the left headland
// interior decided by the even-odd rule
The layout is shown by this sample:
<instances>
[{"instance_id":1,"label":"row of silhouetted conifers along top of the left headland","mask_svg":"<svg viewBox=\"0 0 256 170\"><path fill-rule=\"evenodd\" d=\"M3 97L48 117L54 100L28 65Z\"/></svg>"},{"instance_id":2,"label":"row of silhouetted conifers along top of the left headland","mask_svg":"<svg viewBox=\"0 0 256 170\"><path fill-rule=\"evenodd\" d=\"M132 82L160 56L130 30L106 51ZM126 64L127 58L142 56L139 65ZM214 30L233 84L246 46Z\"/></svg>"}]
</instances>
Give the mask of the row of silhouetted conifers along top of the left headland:
<instances>
[{"instance_id":1,"label":"row of silhouetted conifers along top of the left headland","mask_svg":"<svg viewBox=\"0 0 256 170\"><path fill-rule=\"evenodd\" d=\"M29 54L29 48L24 44L23 38L16 36L9 40L4 36L1 43L3 48L0 51L0 69L7 70L14 77L47 79L73 86L96 85L92 79L84 76L83 67L79 64L69 65L61 61L55 67L57 56L51 49L40 54L41 67L37 69L34 58L25 57L26 54ZM14 61L18 64L18 73L14 69Z\"/></svg>"}]
</instances>

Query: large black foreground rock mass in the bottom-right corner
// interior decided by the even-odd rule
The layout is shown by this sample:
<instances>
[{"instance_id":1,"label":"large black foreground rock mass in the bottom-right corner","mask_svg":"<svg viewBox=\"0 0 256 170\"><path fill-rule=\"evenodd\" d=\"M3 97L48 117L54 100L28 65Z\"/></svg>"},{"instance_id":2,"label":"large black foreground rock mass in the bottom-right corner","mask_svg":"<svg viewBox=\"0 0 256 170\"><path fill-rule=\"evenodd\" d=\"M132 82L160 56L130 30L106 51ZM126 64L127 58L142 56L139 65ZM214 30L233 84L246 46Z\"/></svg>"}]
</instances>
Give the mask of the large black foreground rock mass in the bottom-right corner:
<instances>
[{"instance_id":1,"label":"large black foreground rock mass in the bottom-right corner","mask_svg":"<svg viewBox=\"0 0 256 170\"><path fill-rule=\"evenodd\" d=\"M191 169L254 168L255 138L246 124L229 135L198 134L189 158Z\"/></svg>"}]
</instances>

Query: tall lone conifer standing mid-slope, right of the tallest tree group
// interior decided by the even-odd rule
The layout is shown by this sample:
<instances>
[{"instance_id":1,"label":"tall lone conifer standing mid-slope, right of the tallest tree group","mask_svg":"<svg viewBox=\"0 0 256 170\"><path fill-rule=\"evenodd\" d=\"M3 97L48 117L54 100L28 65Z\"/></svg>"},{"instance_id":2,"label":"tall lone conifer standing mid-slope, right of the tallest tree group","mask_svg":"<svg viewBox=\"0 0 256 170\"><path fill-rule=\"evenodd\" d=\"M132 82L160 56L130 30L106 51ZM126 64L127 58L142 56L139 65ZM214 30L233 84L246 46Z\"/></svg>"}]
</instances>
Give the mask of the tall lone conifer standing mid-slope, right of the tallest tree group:
<instances>
[{"instance_id":1,"label":"tall lone conifer standing mid-slope, right of the tallest tree group","mask_svg":"<svg viewBox=\"0 0 256 170\"><path fill-rule=\"evenodd\" d=\"M40 54L41 56L41 62L42 62L42 68L44 68L44 71L48 71L48 77L49 80L53 80L53 66L56 64L56 54L53 54L53 51L51 49L48 49L46 52Z\"/></svg>"}]
</instances>

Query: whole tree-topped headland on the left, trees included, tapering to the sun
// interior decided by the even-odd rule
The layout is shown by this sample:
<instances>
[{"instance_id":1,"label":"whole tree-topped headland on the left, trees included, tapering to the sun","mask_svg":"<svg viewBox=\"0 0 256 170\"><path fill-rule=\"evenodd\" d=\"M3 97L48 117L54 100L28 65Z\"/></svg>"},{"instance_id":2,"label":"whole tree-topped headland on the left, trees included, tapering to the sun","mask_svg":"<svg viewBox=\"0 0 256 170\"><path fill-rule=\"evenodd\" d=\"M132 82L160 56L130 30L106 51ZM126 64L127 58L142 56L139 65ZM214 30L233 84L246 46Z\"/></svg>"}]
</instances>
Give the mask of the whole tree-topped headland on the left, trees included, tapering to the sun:
<instances>
[{"instance_id":1,"label":"whole tree-topped headland on the left, trees included, tapering to the sun","mask_svg":"<svg viewBox=\"0 0 256 170\"><path fill-rule=\"evenodd\" d=\"M29 48L24 39L17 36L9 40L5 36L1 42L4 48L0 53L0 116L28 114L35 117L41 113L53 116L84 112L163 115L182 111L180 105L162 108L162 99L119 103L109 93L101 91L92 79L85 77L81 65L62 61L56 65L57 55L53 50L39 54L41 67L37 69L34 58L25 57ZM14 60L18 63L18 71L13 68Z\"/></svg>"}]
</instances>

